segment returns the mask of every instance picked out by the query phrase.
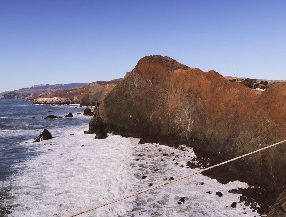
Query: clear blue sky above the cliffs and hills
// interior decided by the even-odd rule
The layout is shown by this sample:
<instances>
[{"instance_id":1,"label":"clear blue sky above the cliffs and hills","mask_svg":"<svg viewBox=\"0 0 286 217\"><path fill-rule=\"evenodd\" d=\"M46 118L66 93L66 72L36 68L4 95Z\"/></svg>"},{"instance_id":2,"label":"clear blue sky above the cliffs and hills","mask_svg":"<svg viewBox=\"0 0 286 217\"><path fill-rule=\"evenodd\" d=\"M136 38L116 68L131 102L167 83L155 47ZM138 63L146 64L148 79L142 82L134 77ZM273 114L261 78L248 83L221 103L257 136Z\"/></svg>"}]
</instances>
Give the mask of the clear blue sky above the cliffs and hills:
<instances>
[{"instance_id":1,"label":"clear blue sky above the cliffs and hills","mask_svg":"<svg viewBox=\"0 0 286 217\"><path fill-rule=\"evenodd\" d=\"M147 55L286 79L286 1L0 0L0 92L109 81Z\"/></svg>"}]
</instances>

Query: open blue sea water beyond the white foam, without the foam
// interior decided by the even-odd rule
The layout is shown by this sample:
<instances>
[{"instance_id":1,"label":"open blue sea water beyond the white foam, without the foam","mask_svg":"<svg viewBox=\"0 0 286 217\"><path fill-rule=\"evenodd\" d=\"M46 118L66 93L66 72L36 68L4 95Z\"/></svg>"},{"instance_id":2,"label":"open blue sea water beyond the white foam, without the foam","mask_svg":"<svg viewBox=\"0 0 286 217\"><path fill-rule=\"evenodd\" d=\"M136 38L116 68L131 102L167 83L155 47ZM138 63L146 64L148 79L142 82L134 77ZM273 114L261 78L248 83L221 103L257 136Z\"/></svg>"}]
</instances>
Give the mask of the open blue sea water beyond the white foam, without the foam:
<instances>
[{"instance_id":1,"label":"open blue sea water beyond the white foam, without the foam","mask_svg":"<svg viewBox=\"0 0 286 217\"><path fill-rule=\"evenodd\" d=\"M56 136L60 129L67 126L88 124L90 117L64 118L68 112L75 116L77 113L83 114L85 108L76 107L78 105L33 105L33 101L24 99L0 100L0 183L19 171L17 165L39 154L37 146L31 145L31 141L44 129ZM44 119L48 115L59 118ZM3 204L3 200L13 197L10 190L11 186L0 185L0 216L10 212L9 204Z\"/></svg>"}]
</instances>

